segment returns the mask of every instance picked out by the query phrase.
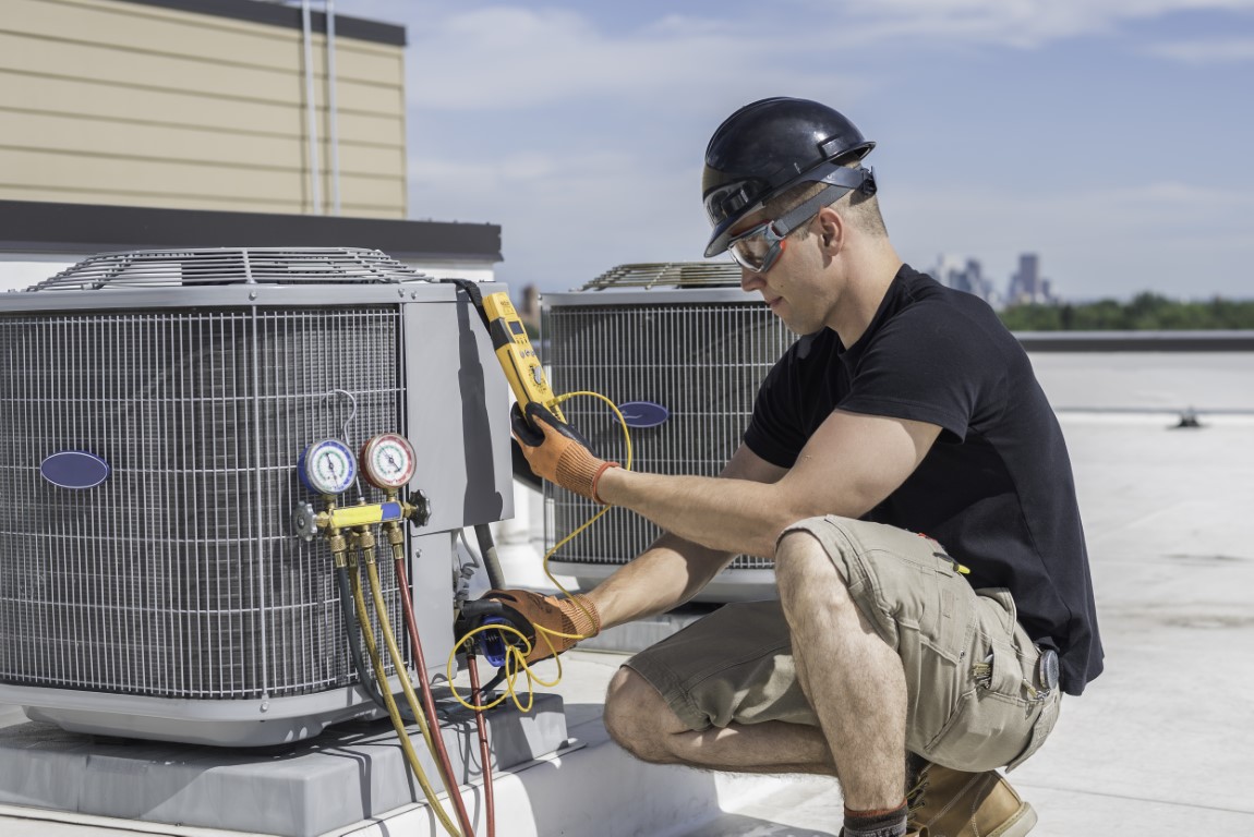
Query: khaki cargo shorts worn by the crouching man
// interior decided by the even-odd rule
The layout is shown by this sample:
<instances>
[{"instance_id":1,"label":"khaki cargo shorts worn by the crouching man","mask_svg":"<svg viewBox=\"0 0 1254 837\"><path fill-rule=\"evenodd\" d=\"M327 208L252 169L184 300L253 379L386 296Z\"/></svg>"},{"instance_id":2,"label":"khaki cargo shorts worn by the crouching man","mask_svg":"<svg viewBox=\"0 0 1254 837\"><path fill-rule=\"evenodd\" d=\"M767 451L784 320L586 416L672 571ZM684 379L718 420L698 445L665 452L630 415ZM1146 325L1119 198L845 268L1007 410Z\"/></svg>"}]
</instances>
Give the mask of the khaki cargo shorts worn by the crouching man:
<instances>
[{"instance_id":1,"label":"khaki cargo shorts worn by the crouching man","mask_svg":"<svg viewBox=\"0 0 1254 837\"><path fill-rule=\"evenodd\" d=\"M813 517L849 594L902 658L905 746L961 771L1017 767L1045 743L1061 692L1004 589L973 590L934 540L882 524ZM801 693L779 601L730 604L628 663L691 729L765 720L818 725ZM813 665L813 662L811 662Z\"/></svg>"}]
</instances>

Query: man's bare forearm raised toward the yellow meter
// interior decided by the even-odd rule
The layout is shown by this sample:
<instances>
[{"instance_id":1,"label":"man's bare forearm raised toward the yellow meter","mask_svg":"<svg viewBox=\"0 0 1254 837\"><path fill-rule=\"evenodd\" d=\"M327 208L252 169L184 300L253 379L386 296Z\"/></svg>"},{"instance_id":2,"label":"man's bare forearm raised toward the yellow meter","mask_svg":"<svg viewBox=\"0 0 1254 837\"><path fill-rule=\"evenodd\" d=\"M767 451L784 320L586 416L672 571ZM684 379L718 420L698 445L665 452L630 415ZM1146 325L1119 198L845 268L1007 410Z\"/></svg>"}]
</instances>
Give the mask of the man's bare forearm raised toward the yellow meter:
<instances>
[{"instance_id":1,"label":"man's bare forearm raised toward the yellow meter","mask_svg":"<svg viewBox=\"0 0 1254 837\"><path fill-rule=\"evenodd\" d=\"M780 501L777 485L751 480L612 469L602 475L597 494L695 544L749 555L772 555L779 533L808 516Z\"/></svg>"}]
</instances>

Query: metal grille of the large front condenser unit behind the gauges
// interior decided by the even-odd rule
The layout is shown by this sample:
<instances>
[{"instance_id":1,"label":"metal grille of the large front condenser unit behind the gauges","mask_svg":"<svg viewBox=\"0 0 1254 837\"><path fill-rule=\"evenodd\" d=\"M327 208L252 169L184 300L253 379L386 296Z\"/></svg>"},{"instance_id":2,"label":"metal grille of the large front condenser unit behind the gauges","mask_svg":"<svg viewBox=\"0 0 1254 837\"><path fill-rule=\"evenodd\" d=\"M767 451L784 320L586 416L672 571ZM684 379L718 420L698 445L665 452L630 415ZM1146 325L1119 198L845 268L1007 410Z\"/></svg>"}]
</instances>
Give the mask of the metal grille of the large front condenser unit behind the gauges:
<instances>
[{"instance_id":1,"label":"metal grille of the large front condenser unit behind the gauges","mask_svg":"<svg viewBox=\"0 0 1254 837\"><path fill-rule=\"evenodd\" d=\"M355 679L325 541L292 536L295 462L349 418L331 390L355 444L401 426L399 331L394 307L0 317L0 679L198 699ZM66 450L112 475L46 482Z\"/></svg>"}]
</instances>

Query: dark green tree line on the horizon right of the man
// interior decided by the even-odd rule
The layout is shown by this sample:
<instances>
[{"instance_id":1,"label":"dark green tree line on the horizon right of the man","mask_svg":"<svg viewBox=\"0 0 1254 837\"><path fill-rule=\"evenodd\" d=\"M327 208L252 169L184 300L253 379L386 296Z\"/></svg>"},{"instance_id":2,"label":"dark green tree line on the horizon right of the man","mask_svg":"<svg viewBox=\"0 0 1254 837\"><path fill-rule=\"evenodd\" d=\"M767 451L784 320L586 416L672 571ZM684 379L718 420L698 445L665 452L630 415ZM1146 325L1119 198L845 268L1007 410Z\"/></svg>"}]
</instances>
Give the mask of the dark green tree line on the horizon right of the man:
<instances>
[{"instance_id":1,"label":"dark green tree line on the horizon right of the man","mask_svg":"<svg viewBox=\"0 0 1254 837\"><path fill-rule=\"evenodd\" d=\"M1011 331L1211 331L1254 330L1254 299L1204 302L1139 293L1130 302L1025 303L999 312Z\"/></svg>"}]
</instances>

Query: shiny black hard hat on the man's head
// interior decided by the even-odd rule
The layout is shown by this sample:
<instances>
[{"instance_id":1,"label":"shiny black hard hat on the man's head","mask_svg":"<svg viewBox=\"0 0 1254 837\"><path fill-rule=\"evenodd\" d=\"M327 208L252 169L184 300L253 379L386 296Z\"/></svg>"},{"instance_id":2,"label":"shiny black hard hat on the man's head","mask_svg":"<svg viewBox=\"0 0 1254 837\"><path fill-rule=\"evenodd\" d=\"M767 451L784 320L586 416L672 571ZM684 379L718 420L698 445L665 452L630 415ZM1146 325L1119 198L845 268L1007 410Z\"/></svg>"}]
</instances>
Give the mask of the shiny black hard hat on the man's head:
<instances>
[{"instance_id":1,"label":"shiny black hard hat on the man's head","mask_svg":"<svg viewBox=\"0 0 1254 837\"><path fill-rule=\"evenodd\" d=\"M727 231L737 221L798 183L823 180L874 193L868 169L844 168L874 147L818 101L775 96L731 114L710 138L701 175L701 199L714 224L706 257L727 249Z\"/></svg>"}]
</instances>

